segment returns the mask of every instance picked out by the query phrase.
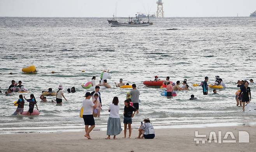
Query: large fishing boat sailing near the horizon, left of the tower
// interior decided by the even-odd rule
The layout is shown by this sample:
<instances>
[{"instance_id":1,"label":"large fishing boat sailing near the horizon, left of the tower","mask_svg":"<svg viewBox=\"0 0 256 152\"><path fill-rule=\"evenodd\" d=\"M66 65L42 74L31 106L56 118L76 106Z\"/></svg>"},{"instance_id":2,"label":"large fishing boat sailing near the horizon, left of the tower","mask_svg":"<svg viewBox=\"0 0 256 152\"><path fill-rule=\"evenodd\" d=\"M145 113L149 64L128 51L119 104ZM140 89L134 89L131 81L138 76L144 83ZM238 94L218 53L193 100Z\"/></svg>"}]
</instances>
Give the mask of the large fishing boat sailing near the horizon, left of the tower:
<instances>
[{"instance_id":1,"label":"large fishing boat sailing near the horizon, left of the tower","mask_svg":"<svg viewBox=\"0 0 256 152\"><path fill-rule=\"evenodd\" d=\"M152 22L149 22L149 16L147 17L146 20L144 19L140 19L140 17L137 17L136 15L136 19L133 19L132 17L129 17L129 21L128 22L119 22L117 21L117 18L114 17L112 20L107 20L109 22L109 24L111 24L111 27L120 27L120 26L149 26L149 25L153 25Z\"/></svg>"}]
</instances>

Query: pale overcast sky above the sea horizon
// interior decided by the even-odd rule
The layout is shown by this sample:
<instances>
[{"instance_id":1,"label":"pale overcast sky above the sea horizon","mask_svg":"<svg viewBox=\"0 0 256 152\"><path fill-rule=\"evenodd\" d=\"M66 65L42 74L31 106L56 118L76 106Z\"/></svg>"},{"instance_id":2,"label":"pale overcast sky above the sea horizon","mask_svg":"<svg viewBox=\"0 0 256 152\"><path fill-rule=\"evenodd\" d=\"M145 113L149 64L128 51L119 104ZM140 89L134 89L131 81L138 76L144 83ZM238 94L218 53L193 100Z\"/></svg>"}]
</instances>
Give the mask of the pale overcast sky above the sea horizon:
<instances>
[{"instance_id":1,"label":"pale overcast sky above the sea horizon","mask_svg":"<svg viewBox=\"0 0 256 152\"><path fill-rule=\"evenodd\" d=\"M249 16L256 0L162 0L165 17ZM154 14L156 0L0 0L1 17L118 17ZM116 11L117 10L117 11Z\"/></svg>"}]
</instances>

